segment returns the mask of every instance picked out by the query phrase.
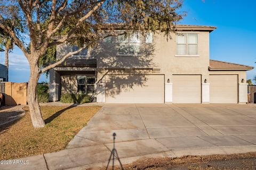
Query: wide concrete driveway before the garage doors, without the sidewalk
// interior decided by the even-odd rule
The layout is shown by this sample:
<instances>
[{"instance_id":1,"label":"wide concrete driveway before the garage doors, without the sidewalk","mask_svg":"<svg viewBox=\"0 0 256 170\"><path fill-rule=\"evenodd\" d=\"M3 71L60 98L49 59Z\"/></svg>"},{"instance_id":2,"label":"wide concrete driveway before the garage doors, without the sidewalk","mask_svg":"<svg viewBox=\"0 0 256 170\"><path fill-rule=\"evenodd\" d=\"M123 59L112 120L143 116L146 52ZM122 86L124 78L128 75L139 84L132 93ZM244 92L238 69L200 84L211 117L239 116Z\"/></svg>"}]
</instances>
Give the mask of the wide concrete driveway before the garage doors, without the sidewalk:
<instances>
[{"instance_id":1,"label":"wide concrete driveway before the garage doors, without the sidewalk","mask_svg":"<svg viewBox=\"0 0 256 170\"><path fill-rule=\"evenodd\" d=\"M154 139L169 149L249 146L256 144L256 107L213 104L105 105L75 139L112 143L113 132L117 134L116 142ZM77 145L88 145L88 142L73 140L68 148Z\"/></svg>"}]
</instances>

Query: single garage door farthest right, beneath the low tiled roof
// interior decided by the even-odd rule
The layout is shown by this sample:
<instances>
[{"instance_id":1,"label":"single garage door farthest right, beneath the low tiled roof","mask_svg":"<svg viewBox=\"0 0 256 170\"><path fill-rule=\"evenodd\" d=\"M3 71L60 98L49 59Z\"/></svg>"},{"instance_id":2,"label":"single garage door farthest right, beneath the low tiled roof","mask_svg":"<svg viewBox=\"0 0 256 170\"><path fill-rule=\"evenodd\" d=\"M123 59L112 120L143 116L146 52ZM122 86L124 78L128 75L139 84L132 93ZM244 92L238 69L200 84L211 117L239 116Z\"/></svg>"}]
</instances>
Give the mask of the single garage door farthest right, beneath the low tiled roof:
<instances>
[{"instance_id":1,"label":"single garage door farthest right, beneath the low tiled roof","mask_svg":"<svg viewBox=\"0 0 256 170\"><path fill-rule=\"evenodd\" d=\"M210 103L237 103L237 75L210 75Z\"/></svg>"}]
</instances>

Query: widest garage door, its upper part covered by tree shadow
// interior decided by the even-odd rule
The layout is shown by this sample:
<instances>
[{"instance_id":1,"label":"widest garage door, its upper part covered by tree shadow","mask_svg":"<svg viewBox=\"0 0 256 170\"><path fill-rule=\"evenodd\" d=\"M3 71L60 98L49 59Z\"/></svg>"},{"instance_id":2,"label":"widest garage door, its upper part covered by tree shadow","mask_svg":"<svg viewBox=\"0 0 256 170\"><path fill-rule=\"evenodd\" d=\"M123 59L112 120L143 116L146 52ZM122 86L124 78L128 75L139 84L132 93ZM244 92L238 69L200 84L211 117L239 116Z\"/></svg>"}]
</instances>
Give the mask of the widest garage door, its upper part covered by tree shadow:
<instances>
[{"instance_id":1,"label":"widest garage door, its upper part covered by tree shadow","mask_svg":"<svg viewBox=\"0 0 256 170\"><path fill-rule=\"evenodd\" d=\"M164 75L107 75L106 103L164 103Z\"/></svg>"}]
</instances>

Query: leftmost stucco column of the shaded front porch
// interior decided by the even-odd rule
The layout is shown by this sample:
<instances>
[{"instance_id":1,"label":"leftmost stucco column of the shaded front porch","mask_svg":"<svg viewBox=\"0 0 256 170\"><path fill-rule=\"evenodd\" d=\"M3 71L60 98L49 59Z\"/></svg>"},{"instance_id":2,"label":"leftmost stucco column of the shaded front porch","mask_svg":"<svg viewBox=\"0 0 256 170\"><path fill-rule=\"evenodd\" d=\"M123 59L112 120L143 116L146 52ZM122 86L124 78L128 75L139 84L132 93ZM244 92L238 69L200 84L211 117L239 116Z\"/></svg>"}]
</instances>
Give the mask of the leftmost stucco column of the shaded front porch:
<instances>
[{"instance_id":1,"label":"leftmost stucco column of the shaded front porch","mask_svg":"<svg viewBox=\"0 0 256 170\"><path fill-rule=\"evenodd\" d=\"M60 74L53 69L50 70L49 100L60 100Z\"/></svg>"}]
</instances>

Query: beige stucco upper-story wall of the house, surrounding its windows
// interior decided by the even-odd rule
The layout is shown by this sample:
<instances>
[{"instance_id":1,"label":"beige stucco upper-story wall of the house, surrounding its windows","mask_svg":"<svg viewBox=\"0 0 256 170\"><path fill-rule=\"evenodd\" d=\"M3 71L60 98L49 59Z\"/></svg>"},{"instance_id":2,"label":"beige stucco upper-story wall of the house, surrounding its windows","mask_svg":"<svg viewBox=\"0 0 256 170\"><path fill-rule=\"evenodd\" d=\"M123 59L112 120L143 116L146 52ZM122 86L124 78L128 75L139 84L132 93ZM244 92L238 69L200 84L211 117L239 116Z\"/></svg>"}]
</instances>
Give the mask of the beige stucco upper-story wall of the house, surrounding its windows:
<instances>
[{"instance_id":1,"label":"beige stucco upper-story wall of the house, surrounding its windows","mask_svg":"<svg viewBox=\"0 0 256 170\"><path fill-rule=\"evenodd\" d=\"M187 32L185 32L187 33ZM209 32L198 33L198 56L175 56L177 43L175 33L167 40L163 33L155 33L152 44L145 43L145 37L140 36L140 52L138 56L118 56L116 37L113 43L103 41L89 50L88 58L97 58L97 69L161 69L165 81L172 74L202 74L202 81L209 79ZM62 44L57 47L57 58L71 52L72 48ZM98 79L99 80L99 79Z\"/></svg>"}]
</instances>

